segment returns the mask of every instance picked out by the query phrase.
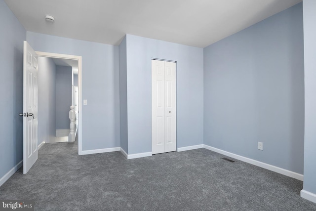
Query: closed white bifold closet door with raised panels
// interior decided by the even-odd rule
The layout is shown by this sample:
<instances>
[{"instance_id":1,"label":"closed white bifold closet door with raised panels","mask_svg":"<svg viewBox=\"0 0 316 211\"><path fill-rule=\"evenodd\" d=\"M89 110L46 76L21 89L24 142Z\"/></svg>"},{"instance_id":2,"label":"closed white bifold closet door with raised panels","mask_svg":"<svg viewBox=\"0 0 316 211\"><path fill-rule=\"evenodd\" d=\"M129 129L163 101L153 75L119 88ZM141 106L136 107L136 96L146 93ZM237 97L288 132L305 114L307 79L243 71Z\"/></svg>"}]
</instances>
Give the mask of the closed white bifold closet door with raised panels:
<instances>
[{"instance_id":1,"label":"closed white bifold closet door with raised panels","mask_svg":"<svg viewBox=\"0 0 316 211\"><path fill-rule=\"evenodd\" d=\"M152 60L152 153L176 150L176 63Z\"/></svg>"}]
</instances>

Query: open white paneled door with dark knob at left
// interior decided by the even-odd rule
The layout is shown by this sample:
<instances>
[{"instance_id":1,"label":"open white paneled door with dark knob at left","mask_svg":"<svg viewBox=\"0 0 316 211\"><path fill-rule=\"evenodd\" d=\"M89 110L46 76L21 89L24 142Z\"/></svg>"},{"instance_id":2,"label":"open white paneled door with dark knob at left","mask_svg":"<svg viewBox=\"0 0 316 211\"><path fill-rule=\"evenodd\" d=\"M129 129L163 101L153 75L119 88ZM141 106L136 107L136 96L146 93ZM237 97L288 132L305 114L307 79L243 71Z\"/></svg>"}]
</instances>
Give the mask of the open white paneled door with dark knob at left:
<instances>
[{"instance_id":1,"label":"open white paneled door with dark knob at left","mask_svg":"<svg viewBox=\"0 0 316 211\"><path fill-rule=\"evenodd\" d=\"M24 41L23 54L23 173L38 160L38 56Z\"/></svg>"}]
</instances>

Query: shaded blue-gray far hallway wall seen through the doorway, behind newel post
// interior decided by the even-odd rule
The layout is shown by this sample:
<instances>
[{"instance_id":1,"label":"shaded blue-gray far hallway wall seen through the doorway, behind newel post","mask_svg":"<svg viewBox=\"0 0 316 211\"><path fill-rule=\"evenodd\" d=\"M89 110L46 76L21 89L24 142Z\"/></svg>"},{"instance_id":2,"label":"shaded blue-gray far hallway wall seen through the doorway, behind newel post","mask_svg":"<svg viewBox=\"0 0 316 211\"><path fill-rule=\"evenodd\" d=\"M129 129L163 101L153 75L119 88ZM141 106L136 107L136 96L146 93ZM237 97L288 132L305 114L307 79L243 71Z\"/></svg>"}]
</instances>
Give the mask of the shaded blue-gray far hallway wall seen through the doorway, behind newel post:
<instances>
[{"instance_id":1,"label":"shaded blue-gray far hallway wall seen through the doorway, behind newel post","mask_svg":"<svg viewBox=\"0 0 316 211\"><path fill-rule=\"evenodd\" d=\"M56 129L69 129L73 68L56 66Z\"/></svg>"}]
</instances>

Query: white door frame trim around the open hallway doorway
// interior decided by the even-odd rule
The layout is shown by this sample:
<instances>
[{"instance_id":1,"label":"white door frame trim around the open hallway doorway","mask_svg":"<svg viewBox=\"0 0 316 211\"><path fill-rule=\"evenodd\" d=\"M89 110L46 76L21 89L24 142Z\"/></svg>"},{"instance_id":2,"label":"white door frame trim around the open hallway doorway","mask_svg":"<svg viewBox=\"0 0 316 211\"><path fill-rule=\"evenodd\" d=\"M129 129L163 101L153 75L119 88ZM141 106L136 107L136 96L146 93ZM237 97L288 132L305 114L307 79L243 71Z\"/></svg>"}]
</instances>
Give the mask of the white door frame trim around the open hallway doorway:
<instances>
[{"instance_id":1,"label":"white door frame trim around the open hallway doorway","mask_svg":"<svg viewBox=\"0 0 316 211\"><path fill-rule=\"evenodd\" d=\"M59 59L72 59L78 61L78 113L79 113L79 127L78 127L78 155L82 155L82 104L81 104L81 56L60 54L60 53L49 53L35 51L38 56L49 57L49 58L59 58ZM39 70L40 71L40 70Z\"/></svg>"}]
</instances>

